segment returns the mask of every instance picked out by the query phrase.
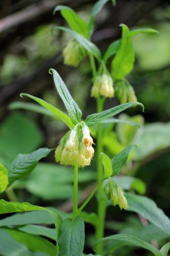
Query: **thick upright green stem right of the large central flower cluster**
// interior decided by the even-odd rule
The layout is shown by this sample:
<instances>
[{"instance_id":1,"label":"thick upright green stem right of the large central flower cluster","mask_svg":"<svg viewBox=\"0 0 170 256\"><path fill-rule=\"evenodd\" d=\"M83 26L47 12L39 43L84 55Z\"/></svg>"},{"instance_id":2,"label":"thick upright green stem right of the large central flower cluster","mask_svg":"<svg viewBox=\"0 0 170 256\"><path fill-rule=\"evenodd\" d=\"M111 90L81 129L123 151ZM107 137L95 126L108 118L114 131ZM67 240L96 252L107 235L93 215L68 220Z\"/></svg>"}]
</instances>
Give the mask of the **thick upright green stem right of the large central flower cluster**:
<instances>
[{"instance_id":1,"label":"thick upright green stem right of the large central flower cluster","mask_svg":"<svg viewBox=\"0 0 170 256\"><path fill-rule=\"evenodd\" d=\"M97 98L97 112L101 112L103 110L103 100L101 97ZM100 153L103 151L102 145L102 133L103 133L103 125L102 123L98 124L97 130L97 183L100 184L103 181L103 167L100 159ZM105 222L105 199L103 198L103 187L100 186L97 195L98 207L97 207L97 215L98 215L98 223L95 230L95 238L99 240L103 238L104 234L104 222ZM96 247L96 253L102 254L103 244L100 243Z\"/></svg>"}]
</instances>

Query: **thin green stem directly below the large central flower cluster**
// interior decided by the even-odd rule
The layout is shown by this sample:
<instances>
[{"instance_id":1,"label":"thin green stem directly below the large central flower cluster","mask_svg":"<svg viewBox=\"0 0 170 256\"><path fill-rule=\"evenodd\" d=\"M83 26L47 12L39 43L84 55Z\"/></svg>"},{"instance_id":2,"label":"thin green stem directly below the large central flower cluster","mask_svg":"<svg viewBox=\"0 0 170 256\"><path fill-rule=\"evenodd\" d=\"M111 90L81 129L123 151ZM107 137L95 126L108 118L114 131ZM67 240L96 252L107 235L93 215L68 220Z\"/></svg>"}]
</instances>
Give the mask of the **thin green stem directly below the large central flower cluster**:
<instances>
[{"instance_id":1,"label":"thin green stem directly below the large central flower cluster","mask_svg":"<svg viewBox=\"0 0 170 256\"><path fill-rule=\"evenodd\" d=\"M73 193L73 219L77 216L78 205L78 162L75 162L74 167L74 193Z\"/></svg>"}]
</instances>

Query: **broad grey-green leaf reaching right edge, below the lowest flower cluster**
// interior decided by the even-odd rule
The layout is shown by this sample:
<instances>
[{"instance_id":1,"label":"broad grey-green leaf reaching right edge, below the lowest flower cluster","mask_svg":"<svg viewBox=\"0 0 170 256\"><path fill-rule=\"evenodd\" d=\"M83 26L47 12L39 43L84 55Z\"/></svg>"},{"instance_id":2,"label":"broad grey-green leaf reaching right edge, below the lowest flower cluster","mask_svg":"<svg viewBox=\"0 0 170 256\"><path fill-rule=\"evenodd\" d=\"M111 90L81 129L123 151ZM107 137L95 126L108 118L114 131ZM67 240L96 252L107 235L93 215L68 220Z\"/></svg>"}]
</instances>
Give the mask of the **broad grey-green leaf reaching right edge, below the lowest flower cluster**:
<instances>
[{"instance_id":1,"label":"broad grey-green leaf reaching right edge, below the lowest flower cluster","mask_svg":"<svg viewBox=\"0 0 170 256\"><path fill-rule=\"evenodd\" d=\"M140 214L143 218L170 234L170 220L153 200L131 193L125 193L125 196L128 201L126 210Z\"/></svg>"}]
</instances>

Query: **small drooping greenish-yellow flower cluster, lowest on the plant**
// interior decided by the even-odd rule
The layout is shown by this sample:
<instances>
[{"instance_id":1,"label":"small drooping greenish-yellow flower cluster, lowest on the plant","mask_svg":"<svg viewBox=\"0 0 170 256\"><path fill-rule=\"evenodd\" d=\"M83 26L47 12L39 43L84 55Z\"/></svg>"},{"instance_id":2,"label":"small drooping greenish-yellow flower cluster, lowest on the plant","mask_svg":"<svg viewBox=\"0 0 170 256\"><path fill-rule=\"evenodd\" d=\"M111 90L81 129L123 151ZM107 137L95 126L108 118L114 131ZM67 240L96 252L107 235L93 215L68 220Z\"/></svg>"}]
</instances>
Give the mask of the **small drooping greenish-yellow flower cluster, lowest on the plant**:
<instances>
[{"instance_id":1,"label":"small drooping greenish-yellow flower cluster, lowest on the plant","mask_svg":"<svg viewBox=\"0 0 170 256\"><path fill-rule=\"evenodd\" d=\"M119 205L120 209L126 209L128 207L128 202L126 201L126 197L124 197L124 192L122 188L116 184L116 182L109 178L108 183L106 183L105 187L103 188L105 195L108 199L112 200L113 205Z\"/></svg>"}]
</instances>

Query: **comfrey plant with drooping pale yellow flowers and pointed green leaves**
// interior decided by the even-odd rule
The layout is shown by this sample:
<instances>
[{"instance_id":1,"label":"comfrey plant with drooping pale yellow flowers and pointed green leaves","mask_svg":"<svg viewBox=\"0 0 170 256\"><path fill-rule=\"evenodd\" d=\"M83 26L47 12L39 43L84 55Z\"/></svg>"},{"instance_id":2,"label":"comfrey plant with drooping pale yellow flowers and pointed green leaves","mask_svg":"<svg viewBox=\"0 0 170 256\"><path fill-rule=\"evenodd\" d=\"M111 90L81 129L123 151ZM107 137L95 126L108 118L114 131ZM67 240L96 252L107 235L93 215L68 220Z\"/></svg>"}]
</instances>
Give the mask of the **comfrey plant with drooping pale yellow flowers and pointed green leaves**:
<instances>
[{"instance_id":1,"label":"comfrey plant with drooping pale yellow flowers and pointed green leaves","mask_svg":"<svg viewBox=\"0 0 170 256\"><path fill-rule=\"evenodd\" d=\"M140 214L142 218L145 218L153 225L157 226L161 230L164 230L167 234L170 233L170 220L165 214L155 205L155 203L146 197L141 195L135 195L132 193L124 193L124 188L117 183L116 176L120 174L130 151L133 146L127 146L118 155L110 159L105 153L103 153L103 123L118 123L124 122L128 125L137 125L133 122L121 121L120 119L113 119L115 115L121 113L127 108L134 106L142 106L141 103L136 101L136 95L134 89L129 84L126 75L130 73L134 65L134 49L132 46L132 36L140 32L151 32L157 31L146 28L130 31L129 28L122 24L122 38L112 42L108 49L103 55L93 42L91 42L91 34L93 34L93 27L95 21L95 15L101 11L103 5L107 0L99 0L95 3L89 22L82 20L73 9L66 6L57 6L54 9L60 11L63 18L67 21L70 28L57 26L54 30L62 30L71 35L72 39L68 42L65 49L62 51L64 57L64 63L66 65L72 65L77 67L85 57L89 57L92 71L92 82L91 96L96 98L97 102L97 113L93 113L86 118L82 118L82 112L73 100L67 86L62 81L60 75L54 69L50 69L49 73L53 76L54 84L60 98L62 99L65 107L67 108L68 114L63 113L58 108L52 106L48 102L31 96L30 94L21 94L22 97L26 96L38 104L43 106L50 112L54 117L64 122L69 131L60 138L58 146L54 152L54 157L57 163L72 166L74 170L73 180L73 212L72 214L65 214L61 211L57 211L54 208L50 209L47 207L40 207L37 205L31 205L30 203L19 203L14 201L0 200L0 213L7 214L12 212L27 212L27 211L46 211L50 214L54 220L56 226L56 232L52 232L51 228L44 226L32 225L31 229L28 227L17 226L17 220L12 221L10 218L8 222L3 222L2 226L6 228L2 229L1 232L4 234L4 241L10 241L9 234L15 235L15 229L20 228L19 232L15 237L21 237L23 234L21 231L28 233L31 239L34 234L34 239L42 235L47 238L51 238L54 241L55 246L49 243L44 238L43 247L34 246L34 249L30 251L30 247L20 245L19 250L22 251L22 255L59 255L59 256L82 256L83 248L85 243L85 224L84 222L90 222L95 228L95 239L93 245L93 253L95 255L112 255L112 251L120 247L122 244L112 244L112 247L108 247L107 241L117 241L117 243L125 242L142 247L156 256L166 256L169 250L169 243L164 245L161 250L157 249L150 243L140 240L137 237L128 234L114 234L103 238L104 227L105 227L105 216L107 213L108 205L118 205L120 210L128 210ZM108 59L111 61L108 65ZM103 110L103 104L108 98L116 96L122 104L114 106L110 109ZM142 106L143 108L143 106ZM95 129L97 133L92 133ZM15 160L11 163L11 166L5 168L3 164L0 165L0 192L2 193L16 181L22 179L34 170L38 161L41 158L48 156L52 150L48 148L40 148L36 152L30 154L19 154ZM95 156L97 165L95 172L97 173L96 186L89 195L79 206L78 203L78 186L79 186L79 172L85 172L86 166L91 164ZM48 170L47 170L48 171ZM129 188L130 189L130 188ZM63 187L63 193L65 193L65 187ZM92 199L94 195L97 195L97 211L95 213L84 212L84 209ZM93 214L93 220L91 219ZM126 211L124 211L126 214ZM35 220L31 222L27 220L26 223L40 224L49 223L46 220ZM15 226L16 225L16 226ZM19 225L19 224L18 224ZM11 232L11 233L10 233ZM13 233L14 232L14 233ZM19 239L16 238L18 241ZM48 242L48 243L47 243ZM1 241L0 241L1 243ZM5 242L4 242L5 243ZM38 244L38 243L37 243ZM47 246L48 245L48 246ZM13 246L13 247L12 247ZM17 242L11 244L13 251L18 247ZM32 247L31 247L32 248ZM6 249L7 250L7 249ZM10 250L10 248L9 248ZM10 251L3 255L11 255ZM21 255L21 254L16 254Z\"/></svg>"}]
</instances>

